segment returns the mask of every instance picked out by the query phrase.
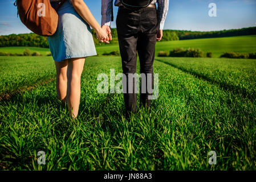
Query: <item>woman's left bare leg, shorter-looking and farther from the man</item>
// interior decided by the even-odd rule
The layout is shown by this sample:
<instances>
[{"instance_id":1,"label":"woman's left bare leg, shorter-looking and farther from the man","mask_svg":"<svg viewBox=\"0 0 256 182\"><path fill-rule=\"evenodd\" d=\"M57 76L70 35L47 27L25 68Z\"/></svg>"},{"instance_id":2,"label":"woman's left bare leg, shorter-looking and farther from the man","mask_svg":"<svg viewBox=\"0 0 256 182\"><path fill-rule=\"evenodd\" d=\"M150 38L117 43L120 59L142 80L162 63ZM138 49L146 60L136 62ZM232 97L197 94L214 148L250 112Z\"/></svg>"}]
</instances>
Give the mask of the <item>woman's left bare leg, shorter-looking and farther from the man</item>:
<instances>
[{"instance_id":1,"label":"woman's left bare leg, shorter-looking and farther from the man","mask_svg":"<svg viewBox=\"0 0 256 182\"><path fill-rule=\"evenodd\" d=\"M67 96L67 60L63 60L61 62L55 61L56 67L56 91L58 99L62 101L62 103L66 102Z\"/></svg>"}]
</instances>

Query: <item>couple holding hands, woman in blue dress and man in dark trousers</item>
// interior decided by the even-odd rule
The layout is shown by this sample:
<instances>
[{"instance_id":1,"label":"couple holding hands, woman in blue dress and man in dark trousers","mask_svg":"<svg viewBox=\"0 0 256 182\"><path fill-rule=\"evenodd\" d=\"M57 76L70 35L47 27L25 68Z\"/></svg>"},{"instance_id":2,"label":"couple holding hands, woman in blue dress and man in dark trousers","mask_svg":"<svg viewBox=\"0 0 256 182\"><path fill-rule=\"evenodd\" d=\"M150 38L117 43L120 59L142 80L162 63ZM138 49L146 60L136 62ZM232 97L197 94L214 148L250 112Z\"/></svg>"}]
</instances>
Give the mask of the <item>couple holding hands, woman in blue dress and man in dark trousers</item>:
<instances>
[{"instance_id":1,"label":"couple holding hands, woman in blue dress and man in dark trousers","mask_svg":"<svg viewBox=\"0 0 256 182\"><path fill-rule=\"evenodd\" d=\"M50 1L52 6L56 6L59 2L59 0ZM169 0L115 0L114 5L119 7L116 28L123 73L127 77L128 74L135 74L138 53L140 73L150 75L153 86L155 46L156 41L162 38ZM85 57L97 55L90 26L94 28L97 39L101 42L111 41L113 0L101 0L101 26L83 0L68 0L57 13L59 15L57 31L48 37L56 66L56 92L59 100L67 102L70 115L76 118ZM127 79L127 86L123 86L124 89L129 90L131 83L132 86L135 85L135 78L131 79ZM145 84L147 85L148 81ZM149 96L152 96L152 93L148 91L140 94L141 105L149 107L151 104ZM136 112L136 102L136 92L124 92L127 117L130 113Z\"/></svg>"}]
</instances>

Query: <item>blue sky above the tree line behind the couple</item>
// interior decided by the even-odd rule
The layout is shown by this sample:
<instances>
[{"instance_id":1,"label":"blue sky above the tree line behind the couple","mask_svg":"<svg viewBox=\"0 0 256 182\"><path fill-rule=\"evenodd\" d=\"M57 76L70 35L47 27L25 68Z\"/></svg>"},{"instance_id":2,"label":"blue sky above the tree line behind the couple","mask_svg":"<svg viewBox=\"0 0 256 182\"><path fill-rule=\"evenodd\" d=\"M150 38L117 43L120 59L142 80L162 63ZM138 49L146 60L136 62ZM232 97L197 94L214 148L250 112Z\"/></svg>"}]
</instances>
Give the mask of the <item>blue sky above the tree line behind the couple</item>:
<instances>
[{"instance_id":1,"label":"blue sky above the tree line behind the couple","mask_svg":"<svg viewBox=\"0 0 256 182\"><path fill-rule=\"evenodd\" d=\"M101 0L84 0L96 20L101 19ZM0 35L30 32L17 18L14 0L0 0ZM217 17L208 15L216 3ZM114 14L116 17L117 8ZM170 0L165 29L213 31L256 26L256 0ZM116 27L115 22L112 27Z\"/></svg>"}]
</instances>

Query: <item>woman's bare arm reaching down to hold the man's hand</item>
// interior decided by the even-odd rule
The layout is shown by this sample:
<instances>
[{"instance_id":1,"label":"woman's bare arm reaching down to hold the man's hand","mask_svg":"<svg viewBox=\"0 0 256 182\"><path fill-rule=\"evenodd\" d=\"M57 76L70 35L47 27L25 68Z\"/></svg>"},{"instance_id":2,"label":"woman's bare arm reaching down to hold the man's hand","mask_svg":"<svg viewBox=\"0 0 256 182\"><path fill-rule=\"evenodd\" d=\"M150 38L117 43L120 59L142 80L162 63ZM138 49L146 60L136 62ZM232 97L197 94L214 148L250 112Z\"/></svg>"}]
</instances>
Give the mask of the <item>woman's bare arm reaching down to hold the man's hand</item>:
<instances>
[{"instance_id":1,"label":"woman's bare arm reaching down to hold the man's hand","mask_svg":"<svg viewBox=\"0 0 256 182\"><path fill-rule=\"evenodd\" d=\"M72 0L71 2L76 12L84 19L84 21L86 21L92 28L94 28L97 34L97 38L101 42L109 43L107 34L101 29L99 23L97 23L91 11L88 9L86 3L84 3L83 0Z\"/></svg>"}]
</instances>

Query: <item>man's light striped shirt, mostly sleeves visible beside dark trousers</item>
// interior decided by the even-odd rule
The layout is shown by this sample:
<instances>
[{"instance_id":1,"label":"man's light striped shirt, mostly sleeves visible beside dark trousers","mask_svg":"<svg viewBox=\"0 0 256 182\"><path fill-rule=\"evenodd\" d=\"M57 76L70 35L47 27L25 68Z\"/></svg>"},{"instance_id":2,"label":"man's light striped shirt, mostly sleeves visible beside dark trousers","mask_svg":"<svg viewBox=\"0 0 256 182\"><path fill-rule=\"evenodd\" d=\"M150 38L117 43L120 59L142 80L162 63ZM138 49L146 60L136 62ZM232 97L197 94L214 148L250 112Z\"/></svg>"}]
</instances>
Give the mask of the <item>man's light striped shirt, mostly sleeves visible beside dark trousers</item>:
<instances>
[{"instance_id":1,"label":"man's light striped shirt, mostly sleeves visible beside dark trousers","mask_svg":"<svg viewBox=\"0 0 256 182\"><path fill-rule=\"evenodd\" d=\"M169 0L153 0L152 4L158 4L157 11L160 20L160 30L164 29L164 22L169 9ZM115 6L120 6L120 0L115 0ZM113 0L101 0L101 25L110 26Z\"/></svg>"}]
</instances>

